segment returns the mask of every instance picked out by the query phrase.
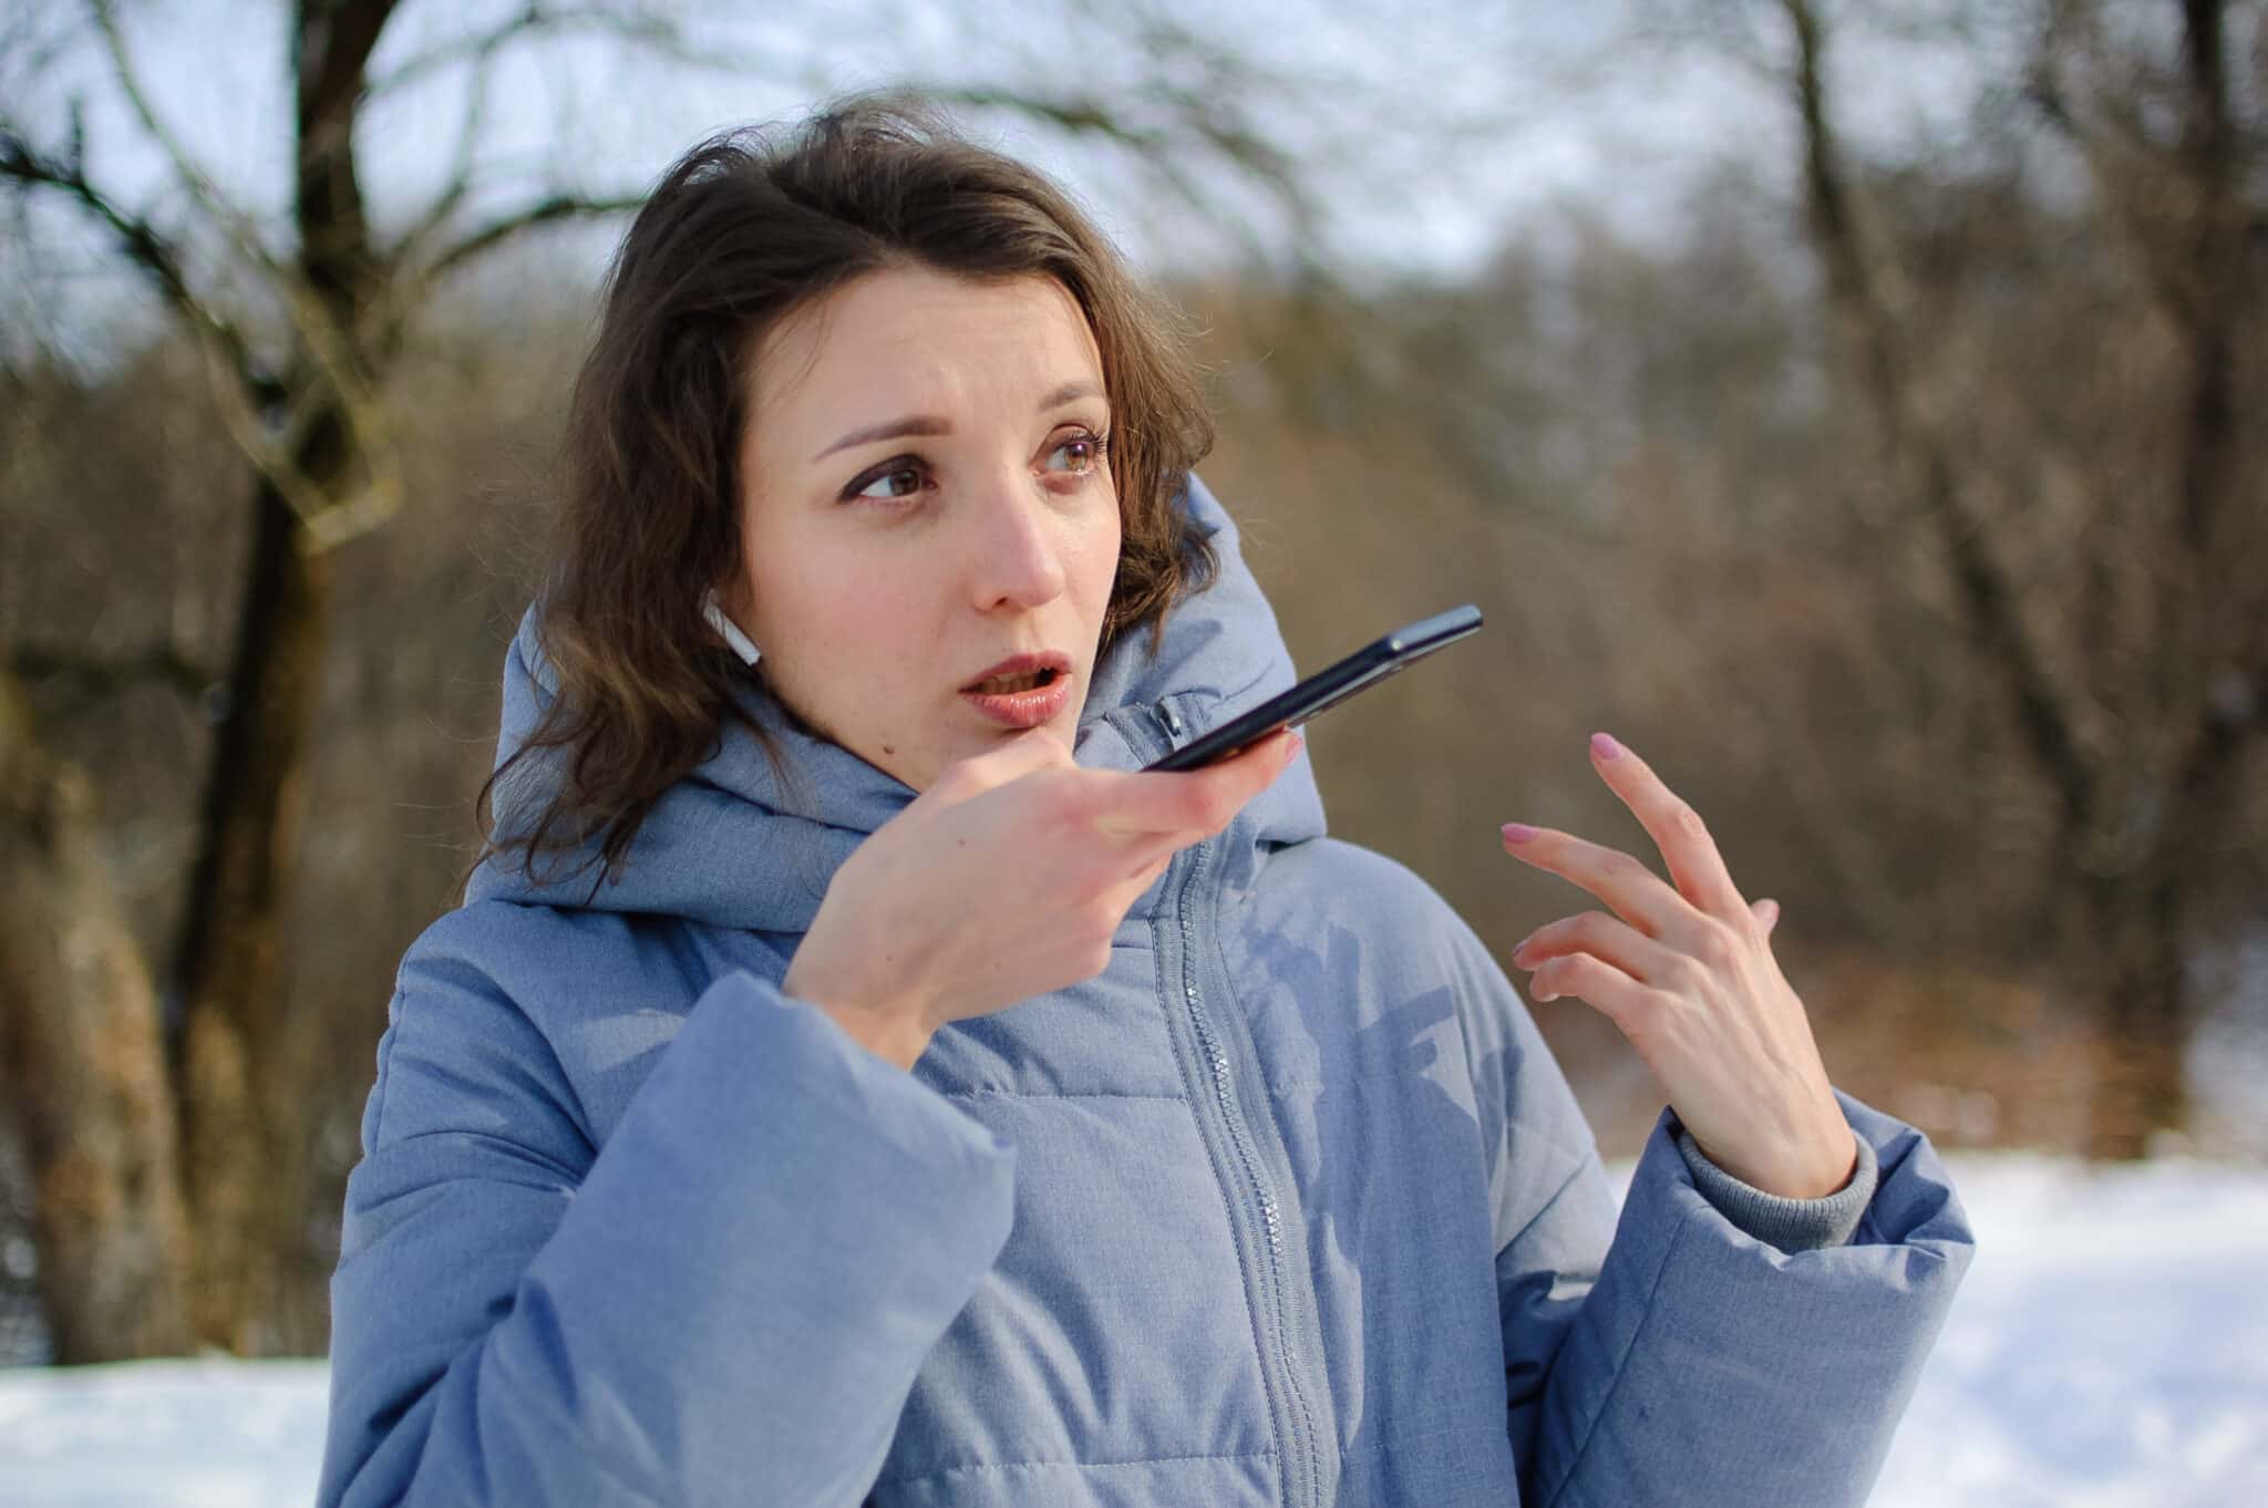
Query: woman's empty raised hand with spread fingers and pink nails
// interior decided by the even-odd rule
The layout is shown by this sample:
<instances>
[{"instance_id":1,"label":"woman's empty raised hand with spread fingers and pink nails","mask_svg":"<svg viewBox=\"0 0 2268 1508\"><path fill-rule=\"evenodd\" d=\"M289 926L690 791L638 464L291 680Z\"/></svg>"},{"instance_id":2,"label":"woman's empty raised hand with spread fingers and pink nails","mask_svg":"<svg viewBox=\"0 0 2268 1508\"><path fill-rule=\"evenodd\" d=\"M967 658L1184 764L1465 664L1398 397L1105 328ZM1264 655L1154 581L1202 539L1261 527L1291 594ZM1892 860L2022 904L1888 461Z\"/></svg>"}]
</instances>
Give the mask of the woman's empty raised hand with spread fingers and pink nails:
<instances>
[{"instance_id":1,"label":"woman's empty raised hand with spread fingers and pink nails","mask_svg":"<svg viewBox=\"0 0 2268 1508\"><path fill-rule=\"evenodd\" d=\"M1778 905L1742 900L1701 816L1644 760L1603 732L1592 735L1590 760L1653 837L1676 887L1615 848L1506 823L1506 853L1615 909L1531 932L1513 950L1513 964L1533 971L1529 996L1576 996L1603 1011L1701 1152L1733 1177L1789 1200L1835 1193L1851 1181L1857 1143L1803 1002L1771 957Z\"/></svg>"}]
</instances>

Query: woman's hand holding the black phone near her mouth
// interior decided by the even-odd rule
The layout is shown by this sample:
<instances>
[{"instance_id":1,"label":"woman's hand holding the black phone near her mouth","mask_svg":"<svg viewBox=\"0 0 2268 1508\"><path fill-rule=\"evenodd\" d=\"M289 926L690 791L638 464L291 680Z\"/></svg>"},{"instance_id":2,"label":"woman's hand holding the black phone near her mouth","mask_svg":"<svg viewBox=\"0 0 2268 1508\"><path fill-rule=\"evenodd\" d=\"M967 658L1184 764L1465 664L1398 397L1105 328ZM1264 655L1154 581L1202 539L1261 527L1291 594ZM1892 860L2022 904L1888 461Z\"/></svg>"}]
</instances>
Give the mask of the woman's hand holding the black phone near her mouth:
<instances>
[{"instance_id":1,"label":"woman's hand holding the black phone near her mouth","mask_svg":"<svg viewBox=\"0 0 2268 1508\"><path fill-rule=\"evenodd\" d=\"M1080 769L1036 732L948 764L835 871L780 989L912 1068L943 1023L1102 973L1173 855L1297 751L1284 730L1204 769L1127 773Z\"/></svg>"}]
</instances>

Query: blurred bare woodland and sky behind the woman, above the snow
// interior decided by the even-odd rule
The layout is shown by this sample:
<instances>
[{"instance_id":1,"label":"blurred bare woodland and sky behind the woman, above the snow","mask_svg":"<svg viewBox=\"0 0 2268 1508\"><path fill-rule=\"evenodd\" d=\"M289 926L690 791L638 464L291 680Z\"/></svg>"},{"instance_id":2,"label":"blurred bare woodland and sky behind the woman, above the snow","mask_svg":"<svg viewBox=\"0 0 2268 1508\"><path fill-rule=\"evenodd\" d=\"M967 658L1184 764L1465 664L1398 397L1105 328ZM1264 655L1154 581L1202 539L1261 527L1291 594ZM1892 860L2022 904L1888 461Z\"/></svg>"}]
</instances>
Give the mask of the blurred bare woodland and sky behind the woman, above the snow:
<instances>
[{"instance_id":1,"label":"blurred bare woodland and sky behind the woman, above the snow","mask_svg":"<svg viewBox=\"0 0 2268 1508\"><path fill-rule=\"evenodd\" d=\"M621 211L848 86L1191 313L1302 667L1486 610L1311 748L1499 957L1608 728L1839 1086L2268 1157L2268 5L1499 9L0 5L0 1361L324 1349Z\"/></svg>"}]
</instances>

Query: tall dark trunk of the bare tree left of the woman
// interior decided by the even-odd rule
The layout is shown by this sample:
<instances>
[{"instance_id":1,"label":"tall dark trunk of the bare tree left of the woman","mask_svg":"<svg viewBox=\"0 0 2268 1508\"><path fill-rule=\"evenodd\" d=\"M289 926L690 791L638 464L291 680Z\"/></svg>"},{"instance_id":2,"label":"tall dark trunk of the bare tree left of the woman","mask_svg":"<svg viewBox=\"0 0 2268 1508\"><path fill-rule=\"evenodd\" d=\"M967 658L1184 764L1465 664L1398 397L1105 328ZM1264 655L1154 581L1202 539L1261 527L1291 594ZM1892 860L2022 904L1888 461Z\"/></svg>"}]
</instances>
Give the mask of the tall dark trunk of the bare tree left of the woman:
<instances>
[{"instance_id":1,"label":"tall dark trunk of the bare tree left of the woman","mask_svg":"<svg viewBox=\"0 0 2268 1508\"><path fill-rule=\"evenodd\" d=\"M306 549L290 497L342 501L367 467L349 395L374 383L363 315L386 268L370 240L354 152L370 54L395 0L299 0L293 23L297 361L286 390L311 404L288 476L254 494L252 569L236 624L229 710L213 748L197 866L175 952L181 1000L175 1084L197 1259L191 1322L202 1340L259 1354L263 1322L302 1238L297 1202L308 1107L290 1084L279 1018L281 882L299 832L308 723L322 694L331 567ZM345 383L345 386L342 386ZM290 488L290 497L284 488Z\"/></svg>"}]
</instances>

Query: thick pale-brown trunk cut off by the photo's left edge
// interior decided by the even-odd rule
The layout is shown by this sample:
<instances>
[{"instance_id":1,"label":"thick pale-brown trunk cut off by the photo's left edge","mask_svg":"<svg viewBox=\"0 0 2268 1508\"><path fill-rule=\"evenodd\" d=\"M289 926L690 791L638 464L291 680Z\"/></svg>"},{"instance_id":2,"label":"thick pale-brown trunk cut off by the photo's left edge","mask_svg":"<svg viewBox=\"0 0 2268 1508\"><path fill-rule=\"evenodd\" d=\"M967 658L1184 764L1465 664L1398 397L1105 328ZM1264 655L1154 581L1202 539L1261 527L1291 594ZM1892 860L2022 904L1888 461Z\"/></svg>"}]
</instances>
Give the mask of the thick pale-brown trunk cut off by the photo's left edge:
<instances>
[{"instance_id":1,"label":"thick pale-brown trunk cut off by the photo's left edge","mask_svg":"<svg viewBox=\"0 0 2268 1508\"><path fill-rule=\"evenodd\" d=\"M188 1347L188 1227L156 991L93 837L0 669L0 1107L32 1170L54 1361Z\"/></svg>"}]
</instances>

